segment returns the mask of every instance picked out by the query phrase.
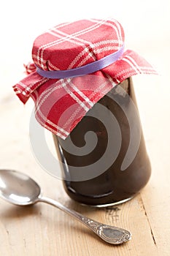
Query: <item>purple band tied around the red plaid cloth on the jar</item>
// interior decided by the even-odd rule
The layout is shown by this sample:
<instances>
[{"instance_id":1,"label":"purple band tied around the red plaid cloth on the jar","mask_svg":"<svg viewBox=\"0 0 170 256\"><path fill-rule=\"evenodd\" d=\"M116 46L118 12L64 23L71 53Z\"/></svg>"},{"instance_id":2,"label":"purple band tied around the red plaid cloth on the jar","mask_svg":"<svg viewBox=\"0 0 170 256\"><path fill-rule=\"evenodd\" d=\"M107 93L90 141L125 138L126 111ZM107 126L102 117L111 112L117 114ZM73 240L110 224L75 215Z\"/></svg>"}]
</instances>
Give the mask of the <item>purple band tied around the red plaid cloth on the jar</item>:
<instances>
[{"instance_id":1,"label":"purple band tied around the red plaid cloth on the jar","mask_svg":"<svg viewBox=\"0 0 170 256\"><path fill-rule=\"evenodd\" d=\"M98 61L94 61L90 64L82 67L77 67L75 69L45 71L43 69L40 69L39 67L36 67L36 72L42 77L51 79L73 78L80 75L88 75L100 69L104 69L104 67L107 67L117 61L117 59L119 59L120 56L123 55L123 51L124 45L115 53L109 54L108 56L99 59Z\"/></svg>"}]
</instances>

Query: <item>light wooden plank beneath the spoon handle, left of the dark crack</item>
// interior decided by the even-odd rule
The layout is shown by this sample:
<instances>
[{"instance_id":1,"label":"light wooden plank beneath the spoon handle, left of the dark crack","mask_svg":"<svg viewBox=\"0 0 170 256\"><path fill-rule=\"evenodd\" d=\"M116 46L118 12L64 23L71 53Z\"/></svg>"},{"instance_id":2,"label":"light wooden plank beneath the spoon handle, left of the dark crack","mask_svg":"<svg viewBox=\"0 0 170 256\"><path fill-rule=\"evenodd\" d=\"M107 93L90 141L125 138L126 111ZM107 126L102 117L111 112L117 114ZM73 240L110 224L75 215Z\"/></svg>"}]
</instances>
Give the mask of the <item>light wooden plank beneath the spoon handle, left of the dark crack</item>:
<instances>
[{"instance_id":1,"label":"light wooden plank beneath the spoon handle, left of the dark crack","mask_svg":"<svg viewBox=\"0 0 170 256\"><path fill-rule=\"evenodd\" d=\"M4 204L4 203L3 203ZM133 238L122 246L105 244L81 223L51 206L0 211L3 255L156 255L150 223L138 195L123 206L93 209L66 201L69 207L99 222L131 230ZM1 207L2 208L2 207ZM5 245L5 246L4 246Z\"/></svg>"}]
</instances>

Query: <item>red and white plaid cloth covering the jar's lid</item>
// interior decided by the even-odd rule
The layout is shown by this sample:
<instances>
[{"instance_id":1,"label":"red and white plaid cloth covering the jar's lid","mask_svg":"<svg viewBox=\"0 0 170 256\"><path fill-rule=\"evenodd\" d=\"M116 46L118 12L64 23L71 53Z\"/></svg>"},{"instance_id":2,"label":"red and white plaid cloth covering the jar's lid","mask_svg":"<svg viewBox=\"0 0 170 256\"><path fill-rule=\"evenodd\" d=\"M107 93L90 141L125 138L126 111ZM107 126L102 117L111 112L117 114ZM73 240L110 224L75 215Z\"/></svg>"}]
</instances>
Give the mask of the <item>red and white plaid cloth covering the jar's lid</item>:
<instances>
[{"instance_id":1,"label":"red and white plaid cloth covering the jar's lid","mask_svg":"<svg viewBox=\"0 0 170 256\"><path fill-rule=\"evenodd\" d=\"M82 67L115 53L124 44L124 31L117 20L78 20L62 23L37 37L32 49L30 75L13 86L23 103L35 102L39 124L65 139L83 116L118 83L137 74L156 74L155 69L133 50L125 50L113 64L90 75L49 79L43 70Z\"/></svg>"}]
</instances>

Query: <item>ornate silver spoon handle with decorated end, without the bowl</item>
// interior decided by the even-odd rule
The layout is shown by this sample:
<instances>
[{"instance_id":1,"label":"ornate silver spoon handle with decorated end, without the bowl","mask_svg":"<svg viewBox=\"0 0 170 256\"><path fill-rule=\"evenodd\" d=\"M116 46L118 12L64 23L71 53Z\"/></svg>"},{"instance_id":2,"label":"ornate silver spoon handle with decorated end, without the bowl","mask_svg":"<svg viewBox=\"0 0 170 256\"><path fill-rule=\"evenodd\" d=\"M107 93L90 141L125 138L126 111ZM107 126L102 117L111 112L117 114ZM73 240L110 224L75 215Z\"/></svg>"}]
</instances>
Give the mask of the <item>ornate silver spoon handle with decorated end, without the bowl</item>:
<instances>
[{"instance_id":1,"label":"ornate silver spoon handle with decorated end, without the bowl","mask_svg":"<svg viewBox=\"0 0 170 256\"><path fill-rule=\"evenodd\" d=\"M96 235L98 235L101 239L103 239L109 244L123 244L123 242L131 239L131 233L128 230L96 222L93 219L87 218L82 214L79 214L77 211L71 210L66 206L63 206L61 203L51 198L39 197L39 201L55 206L61 209L62 211L66 212L66 214L69 214L72 217L78 219L80 222L82 222L82 224L90 228L90 230L93 230L93 232L96 233Z\"/></svg>"}]
</instances>

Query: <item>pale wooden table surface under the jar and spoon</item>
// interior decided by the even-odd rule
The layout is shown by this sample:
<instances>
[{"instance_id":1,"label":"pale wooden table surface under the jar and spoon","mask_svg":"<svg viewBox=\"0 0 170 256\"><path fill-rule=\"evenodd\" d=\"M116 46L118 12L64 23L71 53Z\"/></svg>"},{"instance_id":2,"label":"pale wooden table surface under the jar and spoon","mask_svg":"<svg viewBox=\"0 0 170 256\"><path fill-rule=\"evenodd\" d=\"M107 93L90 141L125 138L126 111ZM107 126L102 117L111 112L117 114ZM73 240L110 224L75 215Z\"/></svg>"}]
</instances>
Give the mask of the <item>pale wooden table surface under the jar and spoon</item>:
<instances>
[{"instance_id":1,"label":"pale wooden table surface under the jar and spoon","mask_svg":"<svg viewBox=\"0 0 170 256\"><path fill-rule=\"evenodd\" d=\"M30 100L23 107L11 89L24 77L19 67L24 58L20 57L18 65L4 64L0 96L0 168L28 173L39 182L48 197L98 222L131 230L132 239L120 246L109 245L57 208L41 203L20 208L0 200L0 255L170 255L169 41L165 40L163 49L156 49L156 46L151 51L141 48L141 53L159 63L161 77L144 75L134 78L152 176L134 199L109 208L88 208L74 203L64 192L62 182L42 170L36 162L28 129L33 103ZM27 50L21 51L26 53ZM50 134L47 138L53 148Z\"/></svg>"}]
</instances>

